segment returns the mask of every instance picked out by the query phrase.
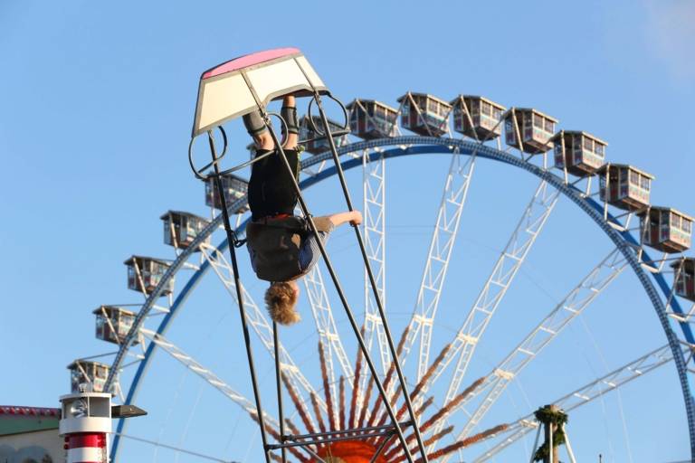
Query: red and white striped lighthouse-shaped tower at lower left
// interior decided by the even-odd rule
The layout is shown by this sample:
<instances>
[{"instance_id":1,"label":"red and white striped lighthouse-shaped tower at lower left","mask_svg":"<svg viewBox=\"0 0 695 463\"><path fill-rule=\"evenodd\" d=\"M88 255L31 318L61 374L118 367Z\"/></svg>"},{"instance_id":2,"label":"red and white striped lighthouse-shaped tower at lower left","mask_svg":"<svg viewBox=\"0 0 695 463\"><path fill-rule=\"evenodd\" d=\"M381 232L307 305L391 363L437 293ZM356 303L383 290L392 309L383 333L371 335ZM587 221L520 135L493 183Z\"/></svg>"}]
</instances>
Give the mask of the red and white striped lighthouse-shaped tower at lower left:
<instances>
[{"instance_id":1,"label":"red and white striped lighthouse-shaped tower at lower left","mask_svg":"<svg viewBox=\"0 0 695 463\"><path fill-rule=\"evenodd\" d=\"M66 463L109 463L111 394L81 392L61 397L60 433Z\"/></svg>"}]
</instances>

